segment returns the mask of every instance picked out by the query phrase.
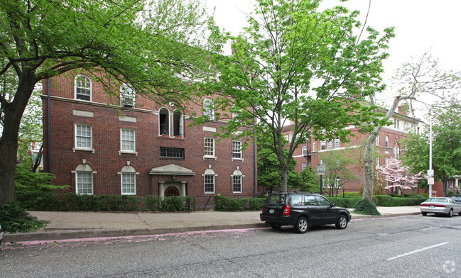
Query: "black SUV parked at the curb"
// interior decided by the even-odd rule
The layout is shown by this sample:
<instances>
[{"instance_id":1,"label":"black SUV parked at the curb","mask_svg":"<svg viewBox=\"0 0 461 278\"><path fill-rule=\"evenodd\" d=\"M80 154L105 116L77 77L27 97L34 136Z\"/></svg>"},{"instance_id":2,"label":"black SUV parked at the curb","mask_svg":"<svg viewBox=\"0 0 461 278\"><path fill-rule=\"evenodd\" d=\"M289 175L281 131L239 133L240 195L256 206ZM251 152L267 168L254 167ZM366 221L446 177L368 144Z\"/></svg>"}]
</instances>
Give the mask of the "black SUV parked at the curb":
<instances>
[{"instance_id":1,"label":"black SUV parked at the curb","mask_svg":"<svg viewBox=\"0 0 461 278\"><path fill-rule=\"evenodd\" d=\"M296 191L270 194L259 215L261 221L274 229L294 226L298 233L305 233L310 226L326 224L345 229L351 217L347 208L335 206L320 194Z\"/></svg>"}]
</instances>

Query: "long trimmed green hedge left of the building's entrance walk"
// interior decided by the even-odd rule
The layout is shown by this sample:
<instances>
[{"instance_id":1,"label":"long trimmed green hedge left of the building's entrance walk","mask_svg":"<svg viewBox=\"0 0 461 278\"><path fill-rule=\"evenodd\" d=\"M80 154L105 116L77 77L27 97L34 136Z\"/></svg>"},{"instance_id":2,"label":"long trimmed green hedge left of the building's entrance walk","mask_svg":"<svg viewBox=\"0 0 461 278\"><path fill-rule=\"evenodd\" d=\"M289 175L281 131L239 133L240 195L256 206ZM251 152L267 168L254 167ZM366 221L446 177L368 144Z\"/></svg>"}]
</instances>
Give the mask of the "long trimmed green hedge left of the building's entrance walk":
<instances>
[{"instance_id":1,"label":"long trimmed green hedge left of the building's entrance walk","mask_svg":"<svg viewBox=\"0 0 461 278\"><path fill-rule=\"evenodd\" d=\"M43 193L17 196L18 204L28 211L192 211L194 196L77 195Z\"/></svg>"}]
</instances>

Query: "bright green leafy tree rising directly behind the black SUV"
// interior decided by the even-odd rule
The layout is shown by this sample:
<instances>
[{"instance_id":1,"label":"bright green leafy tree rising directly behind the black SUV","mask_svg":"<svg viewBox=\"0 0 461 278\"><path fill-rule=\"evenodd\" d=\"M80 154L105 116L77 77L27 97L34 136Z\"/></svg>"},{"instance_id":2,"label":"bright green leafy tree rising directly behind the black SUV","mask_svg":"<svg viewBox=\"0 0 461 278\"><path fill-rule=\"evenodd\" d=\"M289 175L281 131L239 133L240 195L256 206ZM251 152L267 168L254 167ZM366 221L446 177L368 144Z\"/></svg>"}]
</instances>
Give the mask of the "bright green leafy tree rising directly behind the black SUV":
<instances>
[{"instance_id":1,"label":"bright green leafy tree rising directly behind the black SUV","mask_svg":"<svg viewBox=\"0 0 461 278\"><path fill-rule=\"evenodd\" d=\"M249 26L238 36L224 34L233 55L214 55L212 60L219 71L212 85L222 93L215 107L225 111L217 117L232 118L222 135L235 136L241 126L254 126L271 138L283 191L293 152L307 138L345 142L348 126L369 132L369 123L379 122L374 107L361 101L384 89L379 74L393 29L379 37L367 28L368 37L362 38L358 12L342 6L321 10L319 4L257 0ZM292 140L286 145L283 127L290 121Z\"/></svg>"}]
</instances>

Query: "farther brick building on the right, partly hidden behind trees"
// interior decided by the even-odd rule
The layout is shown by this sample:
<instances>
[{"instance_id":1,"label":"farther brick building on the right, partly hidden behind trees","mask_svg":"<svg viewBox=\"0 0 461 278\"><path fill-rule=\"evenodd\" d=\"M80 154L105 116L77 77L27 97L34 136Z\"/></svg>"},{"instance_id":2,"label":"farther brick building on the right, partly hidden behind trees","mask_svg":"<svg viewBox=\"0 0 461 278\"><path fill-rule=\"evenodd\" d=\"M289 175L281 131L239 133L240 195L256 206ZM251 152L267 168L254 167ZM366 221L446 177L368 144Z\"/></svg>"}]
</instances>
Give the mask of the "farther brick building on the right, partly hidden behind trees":
<instances>
[{"instance_id":1,"label":"farther brick building on the right, partly hidden behind trees","mask_svg":"<svg viewBox=\"0 0 461 278\"><path fill-rule=\"evenodd\" d=\"M381 128L379 136L376 137L375 147L379 150L379 157L376 158L376 165L384 165L389 157L399 157L405 148L401 145L400 140L404 138L410 130L415 132L419 131L419 123L421 123L419 119L406 116L406 113L401 111L401 107L399 107L399 112L401 113L394 113L394 116L391 118L394 125ZM288 140L290 140L291 128L292 126L286 126L283 129ZM307 165L311 165L314 171L316 171L317 165L321 162L322 152L328 152L330 150L345 150L345 148L353 148L353 150L356 151L356 158L362 158L363 160L362 154L364 153L364 140L368 135L359 133L357 128L351 127L351 129L354 136L349 137L350 142L348 143L343 143L339 139L330 141L308 140L305 145L300 145L293 154L293 157L295 157L297 162L295 170L297 172L302 172ZM359 179L356 181L348 181L345 185L345 191L358 191L359 187L362 187L364 184L364 168L358 163L350 165L348 168ZM340 191L342 192L342 188L340 188ZM417 189L414 189L413 191L406 189L404 193L416 193L416 191ZM397 192L388 191L388 193Z\"/></svg>"}]
</instances>

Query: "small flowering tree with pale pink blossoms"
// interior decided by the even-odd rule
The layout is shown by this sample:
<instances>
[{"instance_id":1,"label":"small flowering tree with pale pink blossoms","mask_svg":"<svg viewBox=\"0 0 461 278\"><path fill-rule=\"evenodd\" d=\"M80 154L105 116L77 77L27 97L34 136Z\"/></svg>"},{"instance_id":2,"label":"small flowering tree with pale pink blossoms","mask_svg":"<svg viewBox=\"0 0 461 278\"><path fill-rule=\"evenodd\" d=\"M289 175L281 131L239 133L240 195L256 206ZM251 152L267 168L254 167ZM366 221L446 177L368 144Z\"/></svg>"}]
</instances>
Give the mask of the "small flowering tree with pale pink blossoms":
<instances>
[{"instance_id":1,"label":"small flowering tree with pale pink blossoms","mask_svg":"<svg viewBox=\"0 0 461 278\"><path fill-rule=\"evenodd\" d=\"M402 166L401 160L396 160L394 157L391 157L386 165L376 167L376 170L384 176L386 182L389 182L386 189L400 188L400 194L403 194L404 189L417 187L418 179L423 178L421 177L423 172L412 174L408 167Z\"/></svg>"}]
</instances>

